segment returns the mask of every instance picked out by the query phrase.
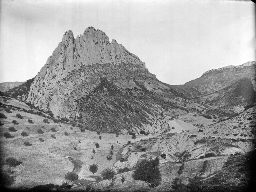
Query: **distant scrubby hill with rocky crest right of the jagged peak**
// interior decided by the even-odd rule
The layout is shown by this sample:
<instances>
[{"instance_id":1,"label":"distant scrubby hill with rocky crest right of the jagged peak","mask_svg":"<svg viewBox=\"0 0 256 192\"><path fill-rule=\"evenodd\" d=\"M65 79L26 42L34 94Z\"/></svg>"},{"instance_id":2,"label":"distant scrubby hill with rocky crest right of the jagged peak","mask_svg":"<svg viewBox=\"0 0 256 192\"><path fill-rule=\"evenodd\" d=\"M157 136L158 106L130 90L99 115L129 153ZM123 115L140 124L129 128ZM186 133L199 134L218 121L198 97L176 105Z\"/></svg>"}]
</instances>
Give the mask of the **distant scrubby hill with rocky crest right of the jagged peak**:
<instances>
[{"instance_id":1,"label":"distant scrubby hill with rocky crest right of the jagged peak","mask_svg":"<svg viewBox=\"0 0 256 192\"><path fill-rule=\"evenodd\" d=\"M200 78L172 88L200 102L241 112L256 103L256 62L205 72Z\"/></svg>"}]
</instances>

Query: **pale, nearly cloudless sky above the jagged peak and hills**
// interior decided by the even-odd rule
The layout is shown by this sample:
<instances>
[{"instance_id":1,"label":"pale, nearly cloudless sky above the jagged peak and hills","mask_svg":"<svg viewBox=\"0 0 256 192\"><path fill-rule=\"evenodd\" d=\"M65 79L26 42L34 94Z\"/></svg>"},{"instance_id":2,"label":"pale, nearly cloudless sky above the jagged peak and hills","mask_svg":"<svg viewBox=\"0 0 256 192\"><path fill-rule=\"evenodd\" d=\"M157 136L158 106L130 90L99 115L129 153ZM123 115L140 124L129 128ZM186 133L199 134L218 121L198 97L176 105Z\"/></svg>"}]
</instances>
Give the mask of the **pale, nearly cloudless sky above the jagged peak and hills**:
<instances>
[{"instance_id":1,"label":"pale, nearly cloudless sky above the jagged peak and hills","mask_svg":"<svg viewBox=\"0 0 256 192\"><path fill-rule=\"evenodd\" d=\"M0 82L36 76L67 30L100 29L168 84L256 60L255 4L232 0L1 0Z\"/></svg>"}]
</instances>

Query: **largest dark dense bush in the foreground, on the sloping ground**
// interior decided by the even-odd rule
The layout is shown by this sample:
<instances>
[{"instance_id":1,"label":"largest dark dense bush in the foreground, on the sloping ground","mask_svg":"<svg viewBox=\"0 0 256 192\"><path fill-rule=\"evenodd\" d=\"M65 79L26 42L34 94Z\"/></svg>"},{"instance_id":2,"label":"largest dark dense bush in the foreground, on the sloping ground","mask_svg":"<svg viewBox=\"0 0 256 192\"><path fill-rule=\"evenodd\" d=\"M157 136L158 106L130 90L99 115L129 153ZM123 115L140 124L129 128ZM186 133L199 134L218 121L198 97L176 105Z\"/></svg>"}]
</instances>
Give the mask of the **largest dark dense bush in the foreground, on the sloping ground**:
<instances>
[{"instance_id":1,"label":"largest dark dense bush in the foreground, on the sloping ground","mask_svg":"<svg viewBox=\"0 0 256 192\"><path fill-rule=\"evenodd\" d=\"M161 181L161 174L158 168L159 158L155 160L142 160L136 170L134 171L133 178L135 180L143 180L153 186L158 186Z\"/></svg>"}]
</instances>

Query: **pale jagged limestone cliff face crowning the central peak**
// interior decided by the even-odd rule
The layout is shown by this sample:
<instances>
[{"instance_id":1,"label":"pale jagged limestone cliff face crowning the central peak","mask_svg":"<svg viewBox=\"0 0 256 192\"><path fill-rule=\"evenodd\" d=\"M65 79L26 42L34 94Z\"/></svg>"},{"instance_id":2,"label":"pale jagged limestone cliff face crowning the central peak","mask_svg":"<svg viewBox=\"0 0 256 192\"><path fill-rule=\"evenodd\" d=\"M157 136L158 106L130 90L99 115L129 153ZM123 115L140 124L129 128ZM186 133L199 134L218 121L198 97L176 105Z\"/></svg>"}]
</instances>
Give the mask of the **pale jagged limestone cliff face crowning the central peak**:
<instances>
[{"instance_id":1,"label":"pale jagged limestone cliff face crowning the central peak","mask_svg":"<svg viewBox=\"0 0 256 192\"><path fill-rule=\"evenodd\" d=\"M35 77L30 88L27 102L48 109L52 96L72 70L79 70L81 66L93 64L132 63L145 68L145 62L127 51L116 40L109 42L108 36L101 30L88 27L83 35L74 38L73 32L65 32L62 41L47 59L46 64ZM146 68L145 68L146 69Z\"/></svg>"}]
</instances>

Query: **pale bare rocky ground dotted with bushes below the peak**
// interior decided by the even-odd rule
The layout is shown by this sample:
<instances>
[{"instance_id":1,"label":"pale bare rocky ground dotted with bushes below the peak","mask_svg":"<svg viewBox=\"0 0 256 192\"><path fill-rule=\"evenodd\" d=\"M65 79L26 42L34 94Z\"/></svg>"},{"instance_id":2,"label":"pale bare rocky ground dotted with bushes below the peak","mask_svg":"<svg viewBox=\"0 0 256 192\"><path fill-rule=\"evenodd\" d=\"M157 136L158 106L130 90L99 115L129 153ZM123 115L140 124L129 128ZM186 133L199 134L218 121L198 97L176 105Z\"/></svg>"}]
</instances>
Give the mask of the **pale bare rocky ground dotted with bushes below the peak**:
<instances>
[{"instance_id":1,"label":"pale bare rocky ground dotted with bushes below the peak","mask_svg":"<svg viewBox=\"0 0 256 192\"><path fill-rule=\"evenodd\" d=\"M12 113L7 113L4 108L0 108L0 112L7 118L1 118L0 142L1 142L1 171L7 172L8 166L5 165L5 159L14 157L21 161L22 164L12 168L12 176L15 178L11 188L26 189L36 185L58 184L66 181L64 175L75 170L79 175L79 180L74 182L71 191L85 190L85 185L93 184L94 189L112 190L112 191L169 191L171 190L171 182L174 178L182 178L184 183L188 182L188 178L201 174L204 178L211 177L222 169L222 166L228 159L230 154L246 153L254 150L254 140L251 136L240 136L236 139L226 136L226 125L228 123L238 123L245 128L250 129L246 125L254 125L248 120L254 114L254 108L249 109L242 114L227 120L227 124L220 122L212 126L218 126L218 131L222 130L219 135L210 134L208 126L196 128L181 119L169 120L169 124L175 124L176 129L167 132L159 132L155 135L136 135L137 138L132 139L131 135L119 135L101 133L91 130L81 132L79 127L71 126L63 122L54 123L52 119L48 119L49 123L44 123L45 117L39 116L40 111L32 109L15 99L3 101L1 103L11 105ZM16 108L18 107L18 108ZM19 109L20 108L20 109ZM27 112L26 112L27 111ZM23 119L18 119L16 114L19 113ZM44 114L44 113L42 113ZM44 114L46 115L46 114ZM167 115L165 116L167 119ZM30 124L28 119L34 123ZM14 125L12 120L16 120L18 124ZM250 121L250 122L248 122ZM240 124L242 122L243 124ZM17 131L10 132L9 127L14 127ZM37 130L41 128L43 134L38 134ZM56 128L56 132L52 132L51 128ZM194 128L193 130L191 130ZM204 129L199 132L199 129ZM208 130L208 132L206 132ZM29 135L22 137L21 132L25 131ZM243 130L246 132L246 130ZM250 130L249 130L250 131ZM14 138L4 138L3 133L10 132ZM69 135L65 136L64 132ZM174 133L172 133L174 132ZM205 134L205 135L204 135ZM247 134L247 132L246 132ZM56 138L52 138L54 135ZM102 139L99 139L99 136ZM38 138L42 138L44 142L40 142ZM79 144L78 140L81 140ZM127 145L128 141L131 144ZM32 146L24 146L24 142L30 142ZM118 142L117 142L118 141ZM100 148L96 149L95 144L99 143ZM106 155L109 153L111 144L114 145L113 160L107 161ZM74 150L76 147L77 150ZM93 154L92 150L96 153ZM191 152L191 160L185 163L182 174L177 174L177 170L181 166L177 162L175 152L189 150ZM161 154L166 154L166 158L161 158ZM214 157L198 159L205 154L212 153ZM91 159L93 156L93 159ZM124 161L120 162L123 157ZM162 176L161 184L155 188L150 188L149 184L144 181L134 180L132 178L134 167L142 159L160 158L160 172ZM194 159L194 160L193 160ZM206 171L201 172L204 162L207 161ZM89 172L89 165L98 164L99 170L92 177ZM101 180L101 172L105 168L112 168L117 172L119 168L128 167L131 171L115 175L115 181ZM121 183L121 177L124 176L125 182Z\"/></svg>"}]
</instances>

